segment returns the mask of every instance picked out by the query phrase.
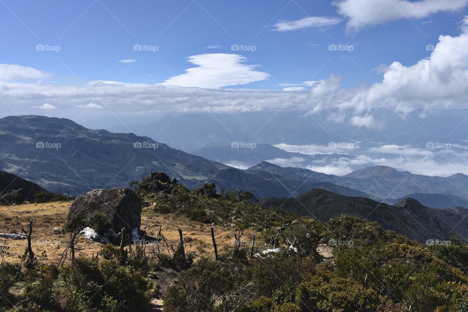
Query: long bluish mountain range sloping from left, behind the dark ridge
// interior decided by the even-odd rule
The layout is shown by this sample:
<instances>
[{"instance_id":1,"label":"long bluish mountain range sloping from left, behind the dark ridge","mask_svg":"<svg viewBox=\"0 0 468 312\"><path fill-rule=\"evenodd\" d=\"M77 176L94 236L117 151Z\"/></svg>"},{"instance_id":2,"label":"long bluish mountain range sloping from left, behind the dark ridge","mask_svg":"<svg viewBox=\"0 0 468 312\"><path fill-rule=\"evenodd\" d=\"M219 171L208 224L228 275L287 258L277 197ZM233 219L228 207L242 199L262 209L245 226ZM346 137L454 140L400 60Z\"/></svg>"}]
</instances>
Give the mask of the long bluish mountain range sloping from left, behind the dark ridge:
<instances>
[{"instance_id":1,"label":"long bluish mountain range sloping from left, behind the dark ridge","mask_svg":"<svg viewBox=\"0 0 468 312\"><path fill-rule=\"evenodd\" d=\"M225 156L231 149L242 157L244 151L240 148L224 148ZM20 175L57 193L69 191L71 195L94 188L126 186L151 171L163 171L188 187L214 182L218 190L240 188L253 192L259 199L299 196L317 187L378 201L393 201L415 193L468 198L468 176L463 174L429 177L374 166L337 176L265 161L242 170L149 137L88 129L69 119L45 116L1 118L0 150L0 170ZM272 157L299 154L260 145L255 157L264 159L269 151ZM298 155L306 156L310 155ZM341 157L315 156L317 159ZM315 156L309 159L313 161ZM252 154L246 157L252 159ZM432 206L428 202L425 204Z\"/></svg>"}]
</instances>

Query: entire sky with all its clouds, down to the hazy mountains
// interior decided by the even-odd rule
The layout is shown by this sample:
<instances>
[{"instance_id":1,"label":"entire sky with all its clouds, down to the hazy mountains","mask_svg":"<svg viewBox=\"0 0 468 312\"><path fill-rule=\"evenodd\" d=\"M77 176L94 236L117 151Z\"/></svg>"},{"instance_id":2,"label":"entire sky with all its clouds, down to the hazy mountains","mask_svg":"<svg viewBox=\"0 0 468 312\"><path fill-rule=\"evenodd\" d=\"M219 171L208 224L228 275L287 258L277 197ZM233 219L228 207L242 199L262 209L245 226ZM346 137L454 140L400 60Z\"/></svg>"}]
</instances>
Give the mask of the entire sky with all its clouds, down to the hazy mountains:
<instances>
[{"instance_id":1,"label":"entire sky with all its clouds, down to the hazy mountains","mask_svg":"<svg viewBox=\"0 0 468 312\"><path fill-rule=\"evenodd\" d=\"M381 108L467 108L467 16L468 0L0 0L0 117L296 110L379 129Z\"/></svg>"}]
</instances>

